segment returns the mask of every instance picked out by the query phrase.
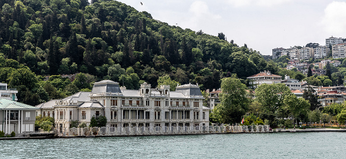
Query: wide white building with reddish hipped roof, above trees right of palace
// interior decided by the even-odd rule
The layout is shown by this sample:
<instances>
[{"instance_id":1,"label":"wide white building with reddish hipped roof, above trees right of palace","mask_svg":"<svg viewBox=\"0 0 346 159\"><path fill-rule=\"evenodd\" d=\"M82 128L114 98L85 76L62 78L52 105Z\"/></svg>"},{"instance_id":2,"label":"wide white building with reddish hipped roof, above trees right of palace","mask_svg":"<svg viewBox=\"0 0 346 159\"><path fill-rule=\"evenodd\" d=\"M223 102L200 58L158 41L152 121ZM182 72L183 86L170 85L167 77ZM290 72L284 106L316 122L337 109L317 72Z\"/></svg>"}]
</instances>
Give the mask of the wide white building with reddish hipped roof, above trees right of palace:
<instances>
[{"instance_id":1,"label":"wide white building with reddish hipped roof, above trees right of palace","mask_svg":"<svg viewBox=\"0 0 346 159\"><path fill-rule=\"evenodd\" d=\"M250 80L250 87L255 89L259 85L281 83L282 77L279 75L271 74L270 71L260 72L258 74L247 77Z\"/></svg>"}]
</instances>

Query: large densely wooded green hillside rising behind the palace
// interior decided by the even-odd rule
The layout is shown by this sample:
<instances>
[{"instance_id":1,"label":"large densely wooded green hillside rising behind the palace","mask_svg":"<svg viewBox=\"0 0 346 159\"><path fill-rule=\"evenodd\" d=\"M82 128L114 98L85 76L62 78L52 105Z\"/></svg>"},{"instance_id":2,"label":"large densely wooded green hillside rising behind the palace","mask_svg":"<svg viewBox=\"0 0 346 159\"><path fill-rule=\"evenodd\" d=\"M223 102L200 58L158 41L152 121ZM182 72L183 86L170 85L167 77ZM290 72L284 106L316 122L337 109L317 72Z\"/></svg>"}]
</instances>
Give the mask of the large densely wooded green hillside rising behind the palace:
<instances>
[{"instance_id":1,"label":"large densely wooded green hillside rising behind the palace","mask_svg":"<svg viewBox=\"0 0 346 159\"><path fill-rule=\"evenodd\" d=\"M204 90L219 88L223 77L246 83L259 71L279 70L221 31L213 36L169 26L118 1L0 0L0 17L0 82L32 105L88 91L102 79L138 89L169 75ZM79 72L74 82L52 76Z\"/></svg>"}]
</instances>

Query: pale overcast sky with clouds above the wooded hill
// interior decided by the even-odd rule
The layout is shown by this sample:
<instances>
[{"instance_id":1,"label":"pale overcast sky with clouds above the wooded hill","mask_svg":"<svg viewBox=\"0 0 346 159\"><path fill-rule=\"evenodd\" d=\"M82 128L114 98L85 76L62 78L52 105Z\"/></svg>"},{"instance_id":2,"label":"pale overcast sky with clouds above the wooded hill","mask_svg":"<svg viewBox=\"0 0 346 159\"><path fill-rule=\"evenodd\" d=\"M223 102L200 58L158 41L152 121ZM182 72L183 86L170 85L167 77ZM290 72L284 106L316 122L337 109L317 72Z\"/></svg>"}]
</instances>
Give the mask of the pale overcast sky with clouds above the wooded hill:
<instances>
[{"instance_id":1,"label":"pale overcast sky with clouds above the wooded hill","mask_svg":"<svg viewBox=\"0 0 346 159\"><path fill-rule=\"evenodd\" d=\"M216 35L271 55L276 47L346 38L342 0L118 0L169 25ZM143 3L143 5L140 4Z\"/></svg>"}]
</instances>

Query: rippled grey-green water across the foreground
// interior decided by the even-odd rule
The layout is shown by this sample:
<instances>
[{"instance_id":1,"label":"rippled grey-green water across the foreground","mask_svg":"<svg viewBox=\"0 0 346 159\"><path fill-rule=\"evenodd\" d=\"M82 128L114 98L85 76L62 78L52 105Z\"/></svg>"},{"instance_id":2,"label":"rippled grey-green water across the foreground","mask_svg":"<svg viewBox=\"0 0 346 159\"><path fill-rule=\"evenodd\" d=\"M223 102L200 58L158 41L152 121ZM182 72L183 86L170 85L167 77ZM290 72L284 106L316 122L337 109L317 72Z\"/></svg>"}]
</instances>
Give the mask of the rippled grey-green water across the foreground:
<instances>
[{"instance_id":1,"label":"rippled grey-green water across the foreground","mask_svg":"<svg viewBox=\"0 0 346 159\"><path fill-rule=\"evenodd\" d=\"M344 132L0 140L1 159L244 159L346 157Z\"/></svg>"}]
</instances>

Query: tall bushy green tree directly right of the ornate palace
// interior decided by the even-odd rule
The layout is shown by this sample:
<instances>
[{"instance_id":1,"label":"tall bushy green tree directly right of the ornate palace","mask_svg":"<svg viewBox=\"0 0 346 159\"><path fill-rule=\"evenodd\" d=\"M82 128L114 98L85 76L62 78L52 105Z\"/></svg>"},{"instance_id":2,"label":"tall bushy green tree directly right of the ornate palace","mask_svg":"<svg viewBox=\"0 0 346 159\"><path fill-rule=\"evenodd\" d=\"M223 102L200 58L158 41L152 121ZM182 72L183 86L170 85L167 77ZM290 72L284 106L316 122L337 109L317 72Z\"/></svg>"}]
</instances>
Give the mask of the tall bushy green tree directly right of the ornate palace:
<instances>
[{"instance_id":1,"label":"tall bushy green tree directly right of the ornate palace","mask_svg":"<svg viewBox=\"0 0 346 159\"><path fill-rule=\"evenodd\" d=\"M219 99L220 104L215 106L212 116L225 124L239 123L250 104L245 84L230 77L221 80Z\"/></svg>"}]
</instances>

